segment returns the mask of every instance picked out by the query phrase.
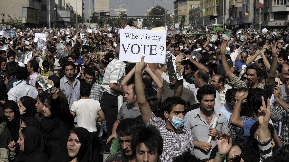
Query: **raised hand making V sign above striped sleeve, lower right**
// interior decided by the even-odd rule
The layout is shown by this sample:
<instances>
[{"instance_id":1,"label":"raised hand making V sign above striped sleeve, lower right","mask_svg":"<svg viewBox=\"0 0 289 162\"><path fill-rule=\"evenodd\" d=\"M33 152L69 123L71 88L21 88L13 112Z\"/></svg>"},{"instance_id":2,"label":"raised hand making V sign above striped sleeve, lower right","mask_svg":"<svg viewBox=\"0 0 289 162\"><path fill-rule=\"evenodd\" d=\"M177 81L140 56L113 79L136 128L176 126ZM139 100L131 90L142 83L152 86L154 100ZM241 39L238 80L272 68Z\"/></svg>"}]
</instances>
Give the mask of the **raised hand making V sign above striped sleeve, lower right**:
<instances>
[{"instance_id":1,"label":"raised hand making V sign above striped sleeve, lower right","mask_svg":"<svg viewBox=\"0 0 289 162\"><path fill-rule=\"evenodd\" d=\"M270 120L270 115L271 115L271 110L270 110L270 99L267 98L267 106L265 104L264 97L262 96L262 106L258 110L258 120L259 120L259 125L268 125L269 120Z\"/></svg>"}]
</instances>

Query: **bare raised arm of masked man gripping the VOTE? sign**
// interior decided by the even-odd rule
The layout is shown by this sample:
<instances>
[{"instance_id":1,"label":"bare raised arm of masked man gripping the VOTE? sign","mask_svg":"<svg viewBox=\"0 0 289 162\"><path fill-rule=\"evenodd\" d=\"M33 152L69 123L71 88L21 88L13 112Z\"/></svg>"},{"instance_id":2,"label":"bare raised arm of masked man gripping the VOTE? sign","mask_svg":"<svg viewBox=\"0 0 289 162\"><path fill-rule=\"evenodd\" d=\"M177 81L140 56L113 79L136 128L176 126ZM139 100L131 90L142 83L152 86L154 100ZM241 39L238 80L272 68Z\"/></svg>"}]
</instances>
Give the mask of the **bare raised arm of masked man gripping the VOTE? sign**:
<instances>
[{"instance_id":1,"label":"bare raised arm of masked man gripping the VOTE? sign","mask_svg":"<svg viewBox=\"0 0 289 162\"><path fill-rule=\"evenodd\" d=\"M144 58L145 56L142 56L142 62L137 63L135 66L134 84L137 96L137 103L139 105L142 121L146 125L152 118L152 111L150 110L150 105L145 99L145 89L142 82L142 70L146 66Z\"/></svg>"}]
</instances>

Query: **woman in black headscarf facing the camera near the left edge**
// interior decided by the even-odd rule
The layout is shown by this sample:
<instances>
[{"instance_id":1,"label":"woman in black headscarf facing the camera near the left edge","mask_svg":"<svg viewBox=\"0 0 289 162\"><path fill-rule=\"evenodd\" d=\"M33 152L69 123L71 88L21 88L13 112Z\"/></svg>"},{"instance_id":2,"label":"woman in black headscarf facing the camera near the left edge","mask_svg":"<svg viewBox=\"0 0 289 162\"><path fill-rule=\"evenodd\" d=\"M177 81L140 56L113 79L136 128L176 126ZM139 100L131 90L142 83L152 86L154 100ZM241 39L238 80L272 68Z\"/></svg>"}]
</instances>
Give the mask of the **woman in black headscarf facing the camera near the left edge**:
<instances>
[{"instance_id":1,"label":"woman in black headscarf facing the camera near the left edge","mask_svg":"<svg viewBox=\"0 0 289 162\"><path fill-rule=\"evenodd\" d=\"M20 130L20 112L18 105L13 100L8 100L3 105L7 127L12 135L12 140L18 140L18 133Z\"/></svg>"}]
</instances>

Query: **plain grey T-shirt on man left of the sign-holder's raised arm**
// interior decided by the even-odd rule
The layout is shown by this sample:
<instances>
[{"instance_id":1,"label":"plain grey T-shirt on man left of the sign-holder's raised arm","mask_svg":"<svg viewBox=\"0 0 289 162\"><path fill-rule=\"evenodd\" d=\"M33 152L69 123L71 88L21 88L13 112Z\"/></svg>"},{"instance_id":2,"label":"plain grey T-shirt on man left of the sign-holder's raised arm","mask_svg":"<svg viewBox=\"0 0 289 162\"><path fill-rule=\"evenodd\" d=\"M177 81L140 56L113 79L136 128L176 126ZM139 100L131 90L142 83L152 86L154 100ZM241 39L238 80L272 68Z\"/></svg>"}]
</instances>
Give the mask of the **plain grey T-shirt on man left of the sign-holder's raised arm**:
<instances>
[{"instance_id":1,"label":"plain grey T-shirt on man left of the sign-holder's raised arm","mask_svg":"<svg viewBox=\"0 0 289 162\"><path fill-rule=\"evenodd\" d=\"M121 105L121 108L119 109L117 119L121 121L126 118L135 118L139 115L140 115L139 108L133 108L130 104L124 102Z\"/></svg>"}]
</instances>

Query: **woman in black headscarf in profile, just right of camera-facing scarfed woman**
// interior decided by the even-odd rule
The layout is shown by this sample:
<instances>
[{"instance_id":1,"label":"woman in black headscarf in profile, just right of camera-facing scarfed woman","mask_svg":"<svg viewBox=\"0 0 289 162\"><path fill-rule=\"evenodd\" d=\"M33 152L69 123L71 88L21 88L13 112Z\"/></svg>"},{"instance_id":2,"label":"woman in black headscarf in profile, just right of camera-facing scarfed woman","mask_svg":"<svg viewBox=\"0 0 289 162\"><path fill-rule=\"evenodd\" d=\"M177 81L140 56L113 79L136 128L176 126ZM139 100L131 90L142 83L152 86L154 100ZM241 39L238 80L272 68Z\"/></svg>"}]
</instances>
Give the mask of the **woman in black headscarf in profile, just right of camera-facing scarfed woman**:
<instances>
[{"instance_id":1,"label":"woman in black headscarf in profile, just right of camera-facing scarfed woman","mask_svg":"<svg viewBox=\"0 0 289 162\"><path fill-rule=\"evenodd\" d=\"M21 114L23 117L34 117L36 114L36 99L29 96L23 96L19 100L19 109L25 108L25 111Z\"/></svg>"}]
</instances>

